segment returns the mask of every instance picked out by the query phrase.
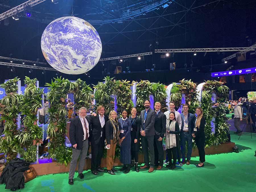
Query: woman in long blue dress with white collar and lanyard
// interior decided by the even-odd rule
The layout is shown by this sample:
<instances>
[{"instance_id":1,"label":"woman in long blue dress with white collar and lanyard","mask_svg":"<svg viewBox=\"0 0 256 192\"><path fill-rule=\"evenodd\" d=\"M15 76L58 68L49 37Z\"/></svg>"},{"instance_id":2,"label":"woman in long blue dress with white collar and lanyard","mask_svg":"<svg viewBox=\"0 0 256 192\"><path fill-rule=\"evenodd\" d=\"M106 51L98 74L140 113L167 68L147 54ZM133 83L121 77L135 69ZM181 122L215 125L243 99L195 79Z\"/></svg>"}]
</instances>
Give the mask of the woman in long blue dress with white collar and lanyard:
<instances>
[{"instance_id":1,"label":"woman in long blue dress with white collar and lanyard","mask_svg":"<svg viewBox=\"0 0 256 192\"><path fill-rule=\"evenodd\" d=\"M120 162L123 164L121 171L130 172L131 163L131 120L127 118L128 111L122 110L122 118L118 119L119 124L119 145L120 148Z\"/></svg>"}]
</instances>

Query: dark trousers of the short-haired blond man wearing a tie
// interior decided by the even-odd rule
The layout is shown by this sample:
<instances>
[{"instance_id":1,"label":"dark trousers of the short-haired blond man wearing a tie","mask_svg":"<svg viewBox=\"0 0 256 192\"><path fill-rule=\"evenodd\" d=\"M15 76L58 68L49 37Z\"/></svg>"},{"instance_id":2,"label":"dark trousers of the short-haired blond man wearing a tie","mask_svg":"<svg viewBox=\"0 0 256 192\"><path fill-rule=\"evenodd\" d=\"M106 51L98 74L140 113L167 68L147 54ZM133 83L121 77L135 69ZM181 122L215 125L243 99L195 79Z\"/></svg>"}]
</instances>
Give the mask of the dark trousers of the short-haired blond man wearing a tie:
<instances>
[{"instance_id":1,"label":"dark trousers of the short-haired blond man wearing a tie","mask_svg":"<svg viewBox=\"0 0 256 192\"><path fill-rule=\"evenodd\" d=\"M163 166L164 164L163 140L157 141L158 139L159 139L159 136L155 135L154 136L155 165Z\"/></svg>"}]
</instances>

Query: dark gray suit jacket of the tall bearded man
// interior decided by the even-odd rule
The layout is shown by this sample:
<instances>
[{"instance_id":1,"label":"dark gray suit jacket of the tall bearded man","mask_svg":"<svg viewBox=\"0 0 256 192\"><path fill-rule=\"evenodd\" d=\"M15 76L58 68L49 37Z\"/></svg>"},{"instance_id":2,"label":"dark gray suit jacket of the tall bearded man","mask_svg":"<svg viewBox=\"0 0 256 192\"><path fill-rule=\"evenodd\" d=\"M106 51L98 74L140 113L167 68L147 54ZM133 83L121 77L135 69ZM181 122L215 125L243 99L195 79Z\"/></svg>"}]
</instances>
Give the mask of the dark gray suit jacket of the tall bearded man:
<instances>
[{"instance_id":1,"label":"dark gray suit jacket of the tall bearded man","mask_svg":"<svg viewBox=\"0 0 256 192\"><path fill-rule=\"evenodd\" d=\"M144 130L146 132L146 136L154 136L155 135L155 119L156 119L156 112L151 108L148 109L147 116L144 123L144 114L145 110L141 111L141 131ZM143 128L144 124L144 128Z\"/></svg>"}]
</instances>

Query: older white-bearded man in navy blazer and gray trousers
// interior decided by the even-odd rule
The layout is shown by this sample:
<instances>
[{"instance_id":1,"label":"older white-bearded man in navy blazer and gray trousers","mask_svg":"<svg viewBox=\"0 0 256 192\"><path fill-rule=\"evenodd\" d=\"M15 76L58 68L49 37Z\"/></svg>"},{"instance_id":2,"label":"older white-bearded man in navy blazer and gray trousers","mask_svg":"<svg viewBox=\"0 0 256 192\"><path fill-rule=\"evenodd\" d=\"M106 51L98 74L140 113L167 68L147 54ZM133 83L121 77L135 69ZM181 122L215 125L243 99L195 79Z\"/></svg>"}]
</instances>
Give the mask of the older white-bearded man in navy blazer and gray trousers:
<instances>
[{"instance_id":1,"label":"older white-bearded man in navy blazer and gray trousers","mask_svg":"<svg viewBox=\"0 0 256 192\"><path fill-rule=\"evenodd\" d=\"M73 185L73 177L78 164L78 176L83 179L82 174L85 158L87 156L89 140L91 135L91 124L90 119L86 116L86 108L81 107L79 109L79 117L72 119L69 126L69 138L72 144L72 158L69 165L69 184Z\"/></svg>"}]
</instances>

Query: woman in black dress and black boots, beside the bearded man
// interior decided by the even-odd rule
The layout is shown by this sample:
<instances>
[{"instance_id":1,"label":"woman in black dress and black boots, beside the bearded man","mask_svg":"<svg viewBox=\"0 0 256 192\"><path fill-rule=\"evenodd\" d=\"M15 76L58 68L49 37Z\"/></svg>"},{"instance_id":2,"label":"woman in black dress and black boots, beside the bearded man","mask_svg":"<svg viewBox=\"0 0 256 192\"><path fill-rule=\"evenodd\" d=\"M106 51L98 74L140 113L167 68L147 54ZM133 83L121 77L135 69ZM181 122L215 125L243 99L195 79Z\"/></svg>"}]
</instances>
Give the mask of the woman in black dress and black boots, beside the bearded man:
<instances>
[{"instance_id":1,"label":"woman in black dress and black boots, beside the bearded man","mask_svg":"<svg viewBox=\"0 0 256 192\"><path fill-rule=\"evenodd\" d=\"M140 130L141 130L141 119L136 116L137 108L131 109L131 167L135 164L135 171L139 172L138 169L138 153L140 150Z\"/></svg>"}]
</instances>

